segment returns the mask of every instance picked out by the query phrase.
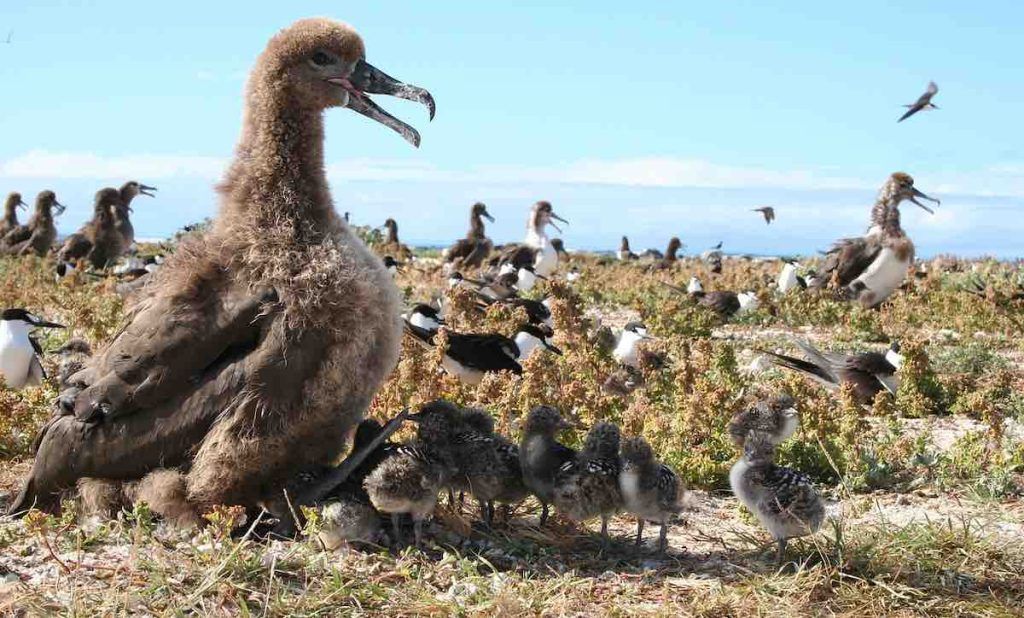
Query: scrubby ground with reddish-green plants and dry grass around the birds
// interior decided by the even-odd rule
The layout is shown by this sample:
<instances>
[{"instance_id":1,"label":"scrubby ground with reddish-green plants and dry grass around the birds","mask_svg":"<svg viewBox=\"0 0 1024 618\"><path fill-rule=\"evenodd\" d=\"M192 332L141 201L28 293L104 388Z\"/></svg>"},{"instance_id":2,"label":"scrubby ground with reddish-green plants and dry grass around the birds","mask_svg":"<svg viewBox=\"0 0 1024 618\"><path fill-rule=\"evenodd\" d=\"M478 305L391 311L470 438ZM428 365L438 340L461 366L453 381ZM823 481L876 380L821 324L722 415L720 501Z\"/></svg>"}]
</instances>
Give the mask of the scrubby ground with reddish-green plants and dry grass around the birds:
<instances>
[{"instance_id":1,"label":"scrubby ground with reddish-green plants and dry grass around the birds","mask_svg":"<svg viewBox=\"0 0 1024 618\"><path fill-rule=\"evenodd\" d=\"M467 505L442 505L425 550L324 551L310 534L260 542L232 534L237 510L208 515L194 534L161 525L144 504L116 521L34 514L0 521L0 613L209 615L1019 615L1024 611L1024 336L1013 300L1019 264L931 261L879 311L828 295L777 295L777 262L726 260L720 275L695 260L648 272L574 255L581 276L531 293L550 295L554 342L520 377L487 376L467 387L436 370L435 352L403 344L401 360L370 413L386 418L438 397L481 406L517 437L537 404L581 427L598 421L642 434L693 491L672 527L667 555L632 546L634 521L616 518L602 549L596 525L556 518L538 526L532 501L489 532ZM67 324L45 334L52 350L71 336L102 346L121 326L115 281L76 274L55 282L53 265L0 261L0 305L24 306ZM565 267L563 266L563 272ZM724 323L663 285L691 274L711 290L753 290L755 311ZM982 295L971 292L980 282ZM399 273L409 302L445 289L424 259ZM458 332L514 332L522 316L469 310L447 293ZM608 388L610 351L628 321L643 320L667 359L642 370L630 394ZM895 396L870 409L852 393L829 393L766 367L759 349L797 354L793 337L826 350L883 350L901 343L906 362ZM48 362L52 363L52 360ZM53 369L53 366L49 367ZM791 544L797 564L778 570L771 539L728 489L736 452L731 415L778 391L791 393L801 428L779 451L829 500L821 531ZM0 390L0 509L27 472L36 430L56 394L47 384ZM579 441L583 432L565 436ZM309 524L312 532L315 519ZM652 537L653 538L653 537Z\"/></svg>"}]
</instances>

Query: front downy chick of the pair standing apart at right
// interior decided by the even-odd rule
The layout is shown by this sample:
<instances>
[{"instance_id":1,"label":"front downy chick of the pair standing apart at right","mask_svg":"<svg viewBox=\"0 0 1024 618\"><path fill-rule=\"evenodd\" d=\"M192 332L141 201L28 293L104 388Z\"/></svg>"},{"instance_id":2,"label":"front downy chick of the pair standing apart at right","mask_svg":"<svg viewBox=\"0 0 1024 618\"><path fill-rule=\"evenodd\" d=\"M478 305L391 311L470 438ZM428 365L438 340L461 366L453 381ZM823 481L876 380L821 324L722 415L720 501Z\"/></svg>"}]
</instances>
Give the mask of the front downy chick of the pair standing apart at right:
<instances>
[{"instance_id":1,"label":"front downy chick of the pair standing apart at right","mask_svg":"<svg viewBox=\"0 0 1024 618\"><path fill-rule=\"evenodd\" d=\"M748 435L742 456L732 466L729 485L778 543L778 564L788 539L818 531L825 510L814 484L804 474L776 466L775 444L766 434Z\"/></svg>"}]
</instances>

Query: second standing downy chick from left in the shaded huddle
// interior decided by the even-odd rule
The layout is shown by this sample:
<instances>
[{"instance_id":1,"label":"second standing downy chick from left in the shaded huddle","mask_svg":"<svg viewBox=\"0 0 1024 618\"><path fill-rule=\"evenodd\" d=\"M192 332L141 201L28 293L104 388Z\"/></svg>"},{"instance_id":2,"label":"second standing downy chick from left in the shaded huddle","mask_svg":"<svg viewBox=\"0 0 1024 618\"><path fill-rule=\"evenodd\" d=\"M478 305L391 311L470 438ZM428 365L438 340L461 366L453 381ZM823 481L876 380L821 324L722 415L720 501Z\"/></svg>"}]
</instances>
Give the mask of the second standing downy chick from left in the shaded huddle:
<instances>
[{"instance_id":1,"label":"second standing downy chick from left in the shaded huddle","mask_svg":"<svg viewBox=\"0 0 1024 618\"><path fill-rule=\"evenodd\" d=\"M526 497L519 449L494 433L494 420L486 410L462 410L452 453L457 469L452 487L469 492L480 502L487 526L494 522L496 501L511 504Z\"/></svg>"}]
</instances>

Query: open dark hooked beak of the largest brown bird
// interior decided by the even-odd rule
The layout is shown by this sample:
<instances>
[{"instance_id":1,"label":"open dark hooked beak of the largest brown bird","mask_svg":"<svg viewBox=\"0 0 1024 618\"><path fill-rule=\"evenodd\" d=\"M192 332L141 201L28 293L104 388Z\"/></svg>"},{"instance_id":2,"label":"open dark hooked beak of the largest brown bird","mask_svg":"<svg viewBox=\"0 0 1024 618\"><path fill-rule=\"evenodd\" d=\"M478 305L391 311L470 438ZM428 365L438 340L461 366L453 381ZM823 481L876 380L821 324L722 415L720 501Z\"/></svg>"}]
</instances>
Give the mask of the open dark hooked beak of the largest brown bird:
<instances>
[{"instance_id":1,"label":"open dark hooked beak of the largest brown bird","mask_svg":"<svg viewBox=\"0 0 1024 618\"><path fill-rule=\"evenodd\" d=\"M383 71L375 68L366 60L355 62L355 68L348 77L336 77L328 79L332 84L337 84L348 92L347 107L358 112L371 120L375 120L386 127L398 132L406 141L416 147L420 147L420 133L391 116L375 103L368 94L389 94L398 98L418 101L427 106L430 111L430 120L434 120L434 97L423 88L403 84Z\"/></svg>"}]
</instances>

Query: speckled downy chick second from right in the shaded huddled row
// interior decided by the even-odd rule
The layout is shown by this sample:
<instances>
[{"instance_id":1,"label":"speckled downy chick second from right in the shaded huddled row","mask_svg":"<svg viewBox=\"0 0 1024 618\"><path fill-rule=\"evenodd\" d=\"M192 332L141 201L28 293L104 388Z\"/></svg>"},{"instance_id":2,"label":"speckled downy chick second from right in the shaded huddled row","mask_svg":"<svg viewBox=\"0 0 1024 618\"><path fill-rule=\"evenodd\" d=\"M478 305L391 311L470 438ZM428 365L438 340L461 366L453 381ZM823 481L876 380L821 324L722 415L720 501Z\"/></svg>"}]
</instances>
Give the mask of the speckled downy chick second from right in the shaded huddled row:
<instances>
[{"instance_id":1,"label":"speckled downy chick second from right in the shaded huddled row","mask_svg":"<svg viewBox=\"0 0 1024 618\"><path fill-rule=\"evenodd\" d=\"M598 423L574 459L558 470L554 503L560 513L578 522L601 517L601 540L608 540L608 520L623 507L618 488L618 428Z\"/></svg>"}]
</instances>

